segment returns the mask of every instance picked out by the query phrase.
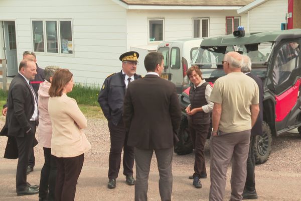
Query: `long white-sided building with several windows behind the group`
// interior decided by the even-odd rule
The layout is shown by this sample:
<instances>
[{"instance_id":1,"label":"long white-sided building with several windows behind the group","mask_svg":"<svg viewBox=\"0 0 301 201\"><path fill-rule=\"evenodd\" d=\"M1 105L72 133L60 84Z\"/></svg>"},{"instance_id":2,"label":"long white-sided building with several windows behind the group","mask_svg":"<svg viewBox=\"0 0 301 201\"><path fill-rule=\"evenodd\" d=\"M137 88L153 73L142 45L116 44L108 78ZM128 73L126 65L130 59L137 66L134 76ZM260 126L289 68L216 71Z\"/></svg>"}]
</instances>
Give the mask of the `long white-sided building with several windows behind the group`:
<instances>
[{"instance_id":1,"label":"long white-sided building with several windows behind the group","mask_svg":"<svg viewBox=\"0 0 301 201\"><path fill-rule=\"evenodd\" d=\"M218 36L238 25L251 26L249 11L237 14L251 2L1 0L0 58L8 60L8 74L15 75L22 53L31 50L40 67L68 68L76 82L100 85L121 70L123 52L138 50L137 72L145 74L143 55L163 40Z\"/></svg>"}]
</instances>

